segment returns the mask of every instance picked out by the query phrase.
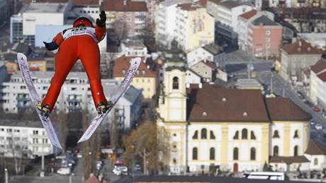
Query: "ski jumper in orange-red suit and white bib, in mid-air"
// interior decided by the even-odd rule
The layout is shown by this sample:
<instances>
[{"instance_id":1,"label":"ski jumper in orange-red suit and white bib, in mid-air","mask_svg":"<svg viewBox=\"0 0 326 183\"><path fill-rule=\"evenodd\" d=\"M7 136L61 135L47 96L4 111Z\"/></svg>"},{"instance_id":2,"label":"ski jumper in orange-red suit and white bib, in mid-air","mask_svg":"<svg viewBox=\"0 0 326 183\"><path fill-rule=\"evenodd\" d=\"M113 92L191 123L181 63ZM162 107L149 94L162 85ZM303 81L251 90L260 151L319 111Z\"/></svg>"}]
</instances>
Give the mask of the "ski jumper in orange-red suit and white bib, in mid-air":
<instances>
[{"instance_id":1,"label":"ski jumper in orange-red suit and white bib, in mid-air","mask_svg":"<svg viewBox=\"0 0 326 183\"><path fill-rule=\"evenodd\" d=\"M38 103L38 110L48 116L55 107L61 87L74 64L78 59L84 66L89 83L91 95L97 112L105 113L111 107L107 101L101 85L100 52L97 45L106 35L106 13L101 11L100 18L96 19L95 28L91 20L79 17L74 20L73 28L58 33L52 42L44 42L45 47L52 51L58 49L55 58L55 74L51 79L50 88L43 102Z\"/></svg>"}]
</instances>

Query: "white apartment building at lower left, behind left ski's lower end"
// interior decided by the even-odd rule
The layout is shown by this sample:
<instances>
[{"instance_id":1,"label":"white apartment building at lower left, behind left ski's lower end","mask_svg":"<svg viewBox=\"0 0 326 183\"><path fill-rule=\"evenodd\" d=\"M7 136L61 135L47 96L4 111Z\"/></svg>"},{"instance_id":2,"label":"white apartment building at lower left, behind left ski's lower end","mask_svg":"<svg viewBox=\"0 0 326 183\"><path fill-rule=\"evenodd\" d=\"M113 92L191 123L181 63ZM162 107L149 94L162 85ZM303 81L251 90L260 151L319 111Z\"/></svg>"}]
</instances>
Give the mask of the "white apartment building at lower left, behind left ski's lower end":
<instances>
[{"instance_id":1,"label":"white apartment building at lower left, behind left ski's lower end","mask_svg":"<svg viewBox=\"0 0 326 183\"><path fill-rule=\"evenodd\" d=\"M43 153L50 155L60 150L52 146L41 122L0 119L1 157L35 158Z\"/></svg>"}]
</instances>

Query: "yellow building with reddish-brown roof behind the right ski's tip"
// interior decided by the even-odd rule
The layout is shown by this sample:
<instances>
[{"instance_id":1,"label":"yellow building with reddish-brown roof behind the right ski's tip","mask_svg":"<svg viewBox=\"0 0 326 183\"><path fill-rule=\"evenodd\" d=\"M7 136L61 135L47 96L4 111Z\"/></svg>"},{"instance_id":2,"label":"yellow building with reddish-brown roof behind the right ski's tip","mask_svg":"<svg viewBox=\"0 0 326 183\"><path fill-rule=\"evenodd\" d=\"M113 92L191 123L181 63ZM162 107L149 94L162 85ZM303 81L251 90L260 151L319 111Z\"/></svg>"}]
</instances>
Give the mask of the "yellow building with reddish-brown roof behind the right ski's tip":
<instances>
[{"instance_id":1,"label":"yellow building with reddish-brown roof behind the right ski's tip","mask_svg":"<svg viewBox=\"0 0 326 183\"><path fill-rule=\"evenodd\" d=\"M127 73L130 66L130 60L134 57L119 57L116 59L113 67L113 78L117 81L123 81L125 73ZM133 78L131 85L135 88L142 90L142 96L145 99L151 99L157 93L158 87L158 64L150 59L141 57L142 62L140 63L139 69Z\"/></svg>"}]
</instances>

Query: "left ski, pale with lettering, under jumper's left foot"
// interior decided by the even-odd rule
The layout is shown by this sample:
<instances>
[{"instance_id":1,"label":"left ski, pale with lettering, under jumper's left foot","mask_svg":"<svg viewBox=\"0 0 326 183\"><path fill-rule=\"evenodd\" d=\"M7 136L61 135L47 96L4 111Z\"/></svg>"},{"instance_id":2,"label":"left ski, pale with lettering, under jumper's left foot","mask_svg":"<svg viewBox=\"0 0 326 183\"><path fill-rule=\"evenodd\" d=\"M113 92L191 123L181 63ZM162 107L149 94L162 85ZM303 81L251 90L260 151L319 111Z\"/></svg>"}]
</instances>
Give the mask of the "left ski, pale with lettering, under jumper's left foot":
<instances>
[{"instance_id":1,"label":"left ski, pale with lettering, under jumper's left foot","mask_svg":"<svg viewBox=\"0 0 326 183\"><path fill-rule=\"evenodd\" d=\"M19 68L21 69L21 76L23 77L23 81L28 88L28 92L30 93L30 99L33 102L36 112L38 112L38 117L44 126L44 129L47 133L47 137L50 139L50 142L53 146L62 149L60 142L57 138L57 134L55 133L55 129L53 129L52 122L50 121L49 117L44 117L41 112L38 110L36 105L40 102L40 97L35 89L35 86L32 82L32 78L30 78L30 71L28 69L27 58L25 54L18 53L17 54L17 61Z\"/></svg>"}]
</instances>

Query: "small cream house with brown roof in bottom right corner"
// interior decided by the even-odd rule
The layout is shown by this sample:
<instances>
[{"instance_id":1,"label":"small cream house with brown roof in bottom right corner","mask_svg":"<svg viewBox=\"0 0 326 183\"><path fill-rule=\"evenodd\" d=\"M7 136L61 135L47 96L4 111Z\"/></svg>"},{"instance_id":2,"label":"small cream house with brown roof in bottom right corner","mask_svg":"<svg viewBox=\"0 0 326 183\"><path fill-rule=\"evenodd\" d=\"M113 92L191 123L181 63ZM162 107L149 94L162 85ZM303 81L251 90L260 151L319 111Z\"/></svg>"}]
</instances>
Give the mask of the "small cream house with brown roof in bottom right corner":
<instances>
[{"instance_id":1,"label":"small cream house with brown roof in bottom right corner","mask_svg":"<svg viewBox=\"0 0 326 183\"><path fill-rule=\"evenodd\" d=\"M310 139L305 157L310 160L310 170L322 171L326 162L326 145L317 139Z\"/></svg>"}]
</instances>

